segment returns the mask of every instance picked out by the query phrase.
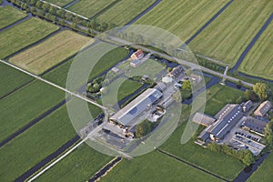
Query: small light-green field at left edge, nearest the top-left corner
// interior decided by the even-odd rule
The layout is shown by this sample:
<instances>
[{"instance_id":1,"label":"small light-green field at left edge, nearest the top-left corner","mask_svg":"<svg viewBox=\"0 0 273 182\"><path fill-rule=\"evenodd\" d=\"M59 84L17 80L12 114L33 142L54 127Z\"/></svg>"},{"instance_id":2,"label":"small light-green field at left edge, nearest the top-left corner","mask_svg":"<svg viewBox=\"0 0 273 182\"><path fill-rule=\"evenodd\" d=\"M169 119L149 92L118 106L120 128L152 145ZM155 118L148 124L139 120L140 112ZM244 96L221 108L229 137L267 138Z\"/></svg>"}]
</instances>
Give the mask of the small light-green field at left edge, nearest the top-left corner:
<instances>
[{"instance_id":1,"label":"small light-green field at left edge, nearest the top-left corner","mask_svg":"<svg viewBox=\"0 0 273 182\"><path fill-rule=\"evenodd\" d=\"M18 11L12 6L0 7L0 14L0 29L7 25L11 25L26 16L24 12Z\"/></svg>"}]
</instances>

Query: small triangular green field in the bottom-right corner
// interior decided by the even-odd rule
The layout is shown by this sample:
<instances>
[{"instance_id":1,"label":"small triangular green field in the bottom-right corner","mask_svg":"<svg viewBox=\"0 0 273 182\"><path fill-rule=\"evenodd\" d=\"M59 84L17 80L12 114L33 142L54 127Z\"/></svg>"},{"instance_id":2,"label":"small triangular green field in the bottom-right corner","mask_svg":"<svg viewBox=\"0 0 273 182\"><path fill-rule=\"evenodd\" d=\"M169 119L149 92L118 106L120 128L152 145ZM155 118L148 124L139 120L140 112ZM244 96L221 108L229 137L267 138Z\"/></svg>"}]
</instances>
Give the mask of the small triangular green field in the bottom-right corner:
<instances>
[{"instance_id":1,"label":"small triangular green field in the bottom-right corner","mask_svg":"<svg viewBox=\"0 0 273 182\"><path fill-rule=\"evenodd\" d=\"M265 161L258 167L257 171L248 178L248 182L270 182L273 179L273 155L272 153L265 159Z\"/></svg>"}]
</instances>

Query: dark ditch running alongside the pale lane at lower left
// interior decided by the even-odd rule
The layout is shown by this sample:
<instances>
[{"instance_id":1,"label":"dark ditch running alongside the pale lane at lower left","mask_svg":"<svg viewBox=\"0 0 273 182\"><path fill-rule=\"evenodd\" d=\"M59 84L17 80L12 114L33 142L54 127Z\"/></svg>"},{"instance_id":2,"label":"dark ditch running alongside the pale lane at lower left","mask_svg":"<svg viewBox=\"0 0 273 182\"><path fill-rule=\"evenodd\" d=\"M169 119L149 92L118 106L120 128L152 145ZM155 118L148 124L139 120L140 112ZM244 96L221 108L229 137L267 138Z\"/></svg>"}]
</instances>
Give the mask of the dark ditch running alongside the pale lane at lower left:
<instances>
[{"instance_id":1,"label":"dark ditch running alongside the pale lane at lower left","mask_svg":"<svg viewBox=\"0 0 273 182\"><path fill-rule=\"evenodd\" d=\"M59 147L54 153L50 154L48 157L45 157L41 162L37 163L34 167L31 167L21 177L16 178L15 181L17 182L25 181L25 179L31 177L33 174L35 174L35 172L40 170L42 167L45 167L45 165L47 165L54 158L64 153L67 148L74 146L79 139L80 136L75 136L74 138L70 139L62 147Z\"/></svg>"}]
</instances>

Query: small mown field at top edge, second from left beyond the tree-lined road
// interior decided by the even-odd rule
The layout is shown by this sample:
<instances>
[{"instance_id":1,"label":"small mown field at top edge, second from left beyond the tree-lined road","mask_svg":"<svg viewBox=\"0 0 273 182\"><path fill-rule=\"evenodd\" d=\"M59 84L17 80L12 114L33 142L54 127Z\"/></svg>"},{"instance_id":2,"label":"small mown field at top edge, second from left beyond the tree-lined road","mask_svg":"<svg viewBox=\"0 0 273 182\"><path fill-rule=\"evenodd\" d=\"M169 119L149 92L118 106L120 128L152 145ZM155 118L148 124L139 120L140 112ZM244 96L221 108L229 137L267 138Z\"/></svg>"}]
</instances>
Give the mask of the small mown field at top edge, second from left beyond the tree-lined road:
<instances>
[{"instance_id":1,"label":"small mown field at top edge, second from left beyond the tree-lined road","mask_svg":"<svg viewBox=\"0 0 273 182\"><path fill-rule=\"evenodd\" d=\"M107 5L111 5L115 1L116 0L79 0L75 5L68 7L68 10L89 18L96 15L104 8L106 8Z\"/></svg>"}]
</instances>

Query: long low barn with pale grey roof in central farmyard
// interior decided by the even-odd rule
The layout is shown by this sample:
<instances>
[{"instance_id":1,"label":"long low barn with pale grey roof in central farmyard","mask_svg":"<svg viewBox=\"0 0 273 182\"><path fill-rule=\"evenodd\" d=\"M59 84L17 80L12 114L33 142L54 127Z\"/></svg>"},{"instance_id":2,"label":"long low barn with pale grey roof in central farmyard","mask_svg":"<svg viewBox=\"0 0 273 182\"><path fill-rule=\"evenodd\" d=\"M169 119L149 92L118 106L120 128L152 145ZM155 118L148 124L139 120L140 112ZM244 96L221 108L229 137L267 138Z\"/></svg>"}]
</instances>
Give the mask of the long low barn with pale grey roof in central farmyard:
<instances>
[{"instance_id":1,"label":"long low barn with pale grey roof in central farmyard","mask_svg":"<svg viewBox=\"0 0 273 182\"><path fill-rule=\"evenodd\" d=\"M131 122L143 113L149 106L159 100L163 94L156 88L148 88L132 102L120 109L116 115L110 117L110 121L117 122L123 126L129 126Z\"/></svg>"}]
</instances>

